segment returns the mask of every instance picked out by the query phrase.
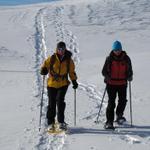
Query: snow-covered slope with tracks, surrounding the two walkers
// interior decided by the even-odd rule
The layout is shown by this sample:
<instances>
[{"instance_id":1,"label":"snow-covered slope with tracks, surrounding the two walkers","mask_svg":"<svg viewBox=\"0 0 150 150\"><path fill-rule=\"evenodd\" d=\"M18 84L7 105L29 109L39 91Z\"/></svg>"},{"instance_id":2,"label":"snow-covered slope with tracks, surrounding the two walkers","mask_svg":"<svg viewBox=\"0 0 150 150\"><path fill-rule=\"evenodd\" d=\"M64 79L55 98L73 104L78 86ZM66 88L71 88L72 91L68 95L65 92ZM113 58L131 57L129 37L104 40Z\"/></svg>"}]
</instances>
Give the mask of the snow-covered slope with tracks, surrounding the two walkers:
<instances>
[{"instance_id":1,"label":"snow-covered slope with tracks, surrounding the two walkers","mask_svg":"<svg viewBox=\"0 0 150 150\"><path fill-rule=\"evenodd\" d=\"M82 0L0 8L0 147L3 150L149 150L150 121L150 1ZM101 69L114 40L120 40L132 59L134 127L105 131L105 89ZM47 135L45 112L38 131L42 77L39 68L64 40L73 53L78 81L77 126L74 93L66 95L70 134ZM129 103L125 112L130 123ZM13 148L12 148L13 147Z\"/></svg>"}]
</instances>

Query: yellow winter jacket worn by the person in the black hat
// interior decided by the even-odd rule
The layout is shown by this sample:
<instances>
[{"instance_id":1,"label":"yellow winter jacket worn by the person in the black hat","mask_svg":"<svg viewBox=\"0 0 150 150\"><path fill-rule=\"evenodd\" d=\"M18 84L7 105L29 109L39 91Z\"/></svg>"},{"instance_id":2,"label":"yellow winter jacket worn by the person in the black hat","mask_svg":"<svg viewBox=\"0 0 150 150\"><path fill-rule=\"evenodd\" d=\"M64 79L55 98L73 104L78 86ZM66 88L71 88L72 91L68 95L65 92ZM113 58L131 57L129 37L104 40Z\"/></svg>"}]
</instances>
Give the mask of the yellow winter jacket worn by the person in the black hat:
<instances>
[{"instance_id":1,"label":"yellow winter jacket worn by the person in the black hat","mask_svg":"<svg viewBox=\"0 0 150 150\"><path fill-rule=\"evenodd\" d=\"M50 63L52 62L52 56L49 56L44 61L41 67L41 72L43 68L46 68L48 71L47 86L60 88L69 85L70 82L68 80L68 75L71 81L77 80L77 76L75 73L75 65L71 58L72 53L66 50L65 55L61 61L56 53L53 55L55 55L55 61L53 62L52 68L50 65ZM68 61L67 59L69 59L70 61Z\"/></svg>"}]
</instances>

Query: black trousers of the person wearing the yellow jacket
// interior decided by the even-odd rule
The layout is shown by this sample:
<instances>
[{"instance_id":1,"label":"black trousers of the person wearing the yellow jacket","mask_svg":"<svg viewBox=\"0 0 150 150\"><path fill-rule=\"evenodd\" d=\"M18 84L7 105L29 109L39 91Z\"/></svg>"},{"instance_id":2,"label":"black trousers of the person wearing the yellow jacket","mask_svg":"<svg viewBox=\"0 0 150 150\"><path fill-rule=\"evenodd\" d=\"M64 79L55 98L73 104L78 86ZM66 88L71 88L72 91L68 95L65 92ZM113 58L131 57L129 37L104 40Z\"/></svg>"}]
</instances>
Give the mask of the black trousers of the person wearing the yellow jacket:
<instances>
[{"instance_id":1,"label":"black trousers of the person wearing the yellow jacket","mask_svg":"<svg viewBox=\"0 0 150 150\"><path fill-rule=\"evenodd\" d=\"M59 123L64 122L64 112L66 103L64 102L65 95L68 86L61 88L48 87L48 109L47 109L47 121L48 125L55 122L56 109L57 109L57 120Z\"/></svg>"}]
</instances>

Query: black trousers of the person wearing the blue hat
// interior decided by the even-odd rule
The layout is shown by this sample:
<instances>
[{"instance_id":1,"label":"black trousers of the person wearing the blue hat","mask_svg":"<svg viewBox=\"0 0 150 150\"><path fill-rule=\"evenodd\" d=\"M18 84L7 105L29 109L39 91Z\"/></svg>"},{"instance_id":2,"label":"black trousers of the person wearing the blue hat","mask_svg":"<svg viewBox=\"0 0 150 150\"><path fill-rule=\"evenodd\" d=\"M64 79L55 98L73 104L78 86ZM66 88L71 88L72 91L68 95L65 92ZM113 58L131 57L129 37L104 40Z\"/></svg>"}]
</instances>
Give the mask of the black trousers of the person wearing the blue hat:
<instances>
[{"instance_id":1,"label":"black trousers of the person wearing the blue hat","mask_svg":"<svg viewBox=\"0 0 150 150\"><path fill-rule=\"evenodd\" d=\"M127 103L127 85L109 85L107 84L108 105L106 109L107 122L114 121L114 109L116 106L115 100L118 95L118 105L116 108L116 115L123 116Z\"/></svg>"}]
</instances>

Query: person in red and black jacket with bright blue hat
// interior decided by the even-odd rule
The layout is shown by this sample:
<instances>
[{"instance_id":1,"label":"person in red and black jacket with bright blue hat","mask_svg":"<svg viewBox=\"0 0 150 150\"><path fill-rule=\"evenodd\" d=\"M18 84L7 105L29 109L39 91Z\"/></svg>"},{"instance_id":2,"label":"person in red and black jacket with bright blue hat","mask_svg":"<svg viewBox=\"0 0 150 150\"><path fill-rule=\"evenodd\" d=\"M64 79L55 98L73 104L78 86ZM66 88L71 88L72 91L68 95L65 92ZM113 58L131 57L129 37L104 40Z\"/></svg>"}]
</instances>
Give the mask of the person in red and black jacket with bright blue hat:
<instances>
[{"instance_id":1,"label":"person in red and black jacket with bright blue hat","mask_svg":"<svg viewBox=\"0 0 150 150\"><path fill-rule=\"evenodd\" d=\"M114 109L115 99L118 95L118 105L116 108L116 121L121 124L125 121L124 110L127 103L127 81L132 81L133 71L129 56L122 50L121 42L115 41L112 51L106 58L102 69L104 82L108 94L108 105L106 108L106 129L114 129Z\"/></svg>"}]
</instances>

